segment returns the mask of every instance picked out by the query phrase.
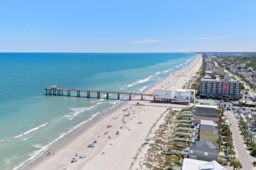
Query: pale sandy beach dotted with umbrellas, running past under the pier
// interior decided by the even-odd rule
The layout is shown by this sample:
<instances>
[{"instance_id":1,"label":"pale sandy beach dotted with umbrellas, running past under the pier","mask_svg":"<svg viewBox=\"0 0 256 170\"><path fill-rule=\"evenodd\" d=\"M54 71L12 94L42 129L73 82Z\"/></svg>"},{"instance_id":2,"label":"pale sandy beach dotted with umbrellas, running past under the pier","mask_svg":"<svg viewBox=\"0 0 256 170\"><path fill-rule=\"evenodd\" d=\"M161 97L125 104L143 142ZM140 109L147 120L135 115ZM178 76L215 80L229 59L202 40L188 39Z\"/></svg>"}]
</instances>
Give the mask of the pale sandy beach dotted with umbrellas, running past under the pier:
<instances>
[{"instance_id":1,"label":"pale sandy beach dotted with umbrellas, running past under the pier","mask_svg":"<svg viewBox=\"0 0 256 170\"><path fill-rule=\"evenodd\" d=\"M198 56L185 69L159 82L145 93L153 93L154 89L182 89L182 86L196 75L201 64L202 57ZM42 156L21 168L129 169L132 158L145 142L149 129L166 109L171 107L179 110L188 107L188 105L153 103L152 97L145 97L143 101L136 99L133 97L131 101L121 103L114 111L96 116L79 126L53 143ZM129 116L124 116L126 113L129 113ZM107 128L108 125L111 127ZM119 131L119 134L115 134L116 131ZM97 140L94 147L87 147L94 140ZM46 156L48 152L51 153L50 156ZM77 161L70 163L72 158L76 158Z\"/></svg>"}]
</instances>

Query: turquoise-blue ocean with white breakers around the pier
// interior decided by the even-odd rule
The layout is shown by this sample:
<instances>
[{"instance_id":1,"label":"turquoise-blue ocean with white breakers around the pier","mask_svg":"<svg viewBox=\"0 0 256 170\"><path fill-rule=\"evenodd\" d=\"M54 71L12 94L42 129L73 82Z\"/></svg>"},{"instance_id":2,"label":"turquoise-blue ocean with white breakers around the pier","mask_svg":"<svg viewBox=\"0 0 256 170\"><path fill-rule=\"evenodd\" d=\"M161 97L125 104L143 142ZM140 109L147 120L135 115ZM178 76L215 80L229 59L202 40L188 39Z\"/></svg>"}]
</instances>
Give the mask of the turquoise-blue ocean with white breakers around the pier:
<instances>
[{"instance_id":1,"label":"turquoise-blue ocean with white breakers around the pier","mask_svg":"<svg viewBox=\"0 0 256 170\"><path fill-rule=\"evenodd\" d=\"M143 92L195 58L188 53L0 53L0 169L28 163L120 102L116 95L108 100L103 94L77 98L75 92L46 96L45 87Z\"/></svg>"}]
</instances>

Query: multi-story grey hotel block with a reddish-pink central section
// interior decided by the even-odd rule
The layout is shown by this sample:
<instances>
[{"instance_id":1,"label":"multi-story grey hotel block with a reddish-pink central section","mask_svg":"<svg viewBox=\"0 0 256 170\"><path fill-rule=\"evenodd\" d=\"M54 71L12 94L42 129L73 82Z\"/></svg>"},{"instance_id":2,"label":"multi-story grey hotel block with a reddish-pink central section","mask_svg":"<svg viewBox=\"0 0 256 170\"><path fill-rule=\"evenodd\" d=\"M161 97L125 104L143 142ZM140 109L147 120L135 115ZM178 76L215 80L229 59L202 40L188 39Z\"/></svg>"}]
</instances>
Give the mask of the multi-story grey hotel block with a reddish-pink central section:
<instances>
[{"instance_id":1,"label":"multi-story grey hotel block with a reddish-pink central section","mask_svg":"<svg viewBox=\"0 0 256 170\"><path fill-rule=\"evenodd\" d=\"M235 100L239 99L241 81L230 79L225 76L223 80L201 79L200 96L202 98L222 99L223 97Z\"/></svg>"}]
</instances>

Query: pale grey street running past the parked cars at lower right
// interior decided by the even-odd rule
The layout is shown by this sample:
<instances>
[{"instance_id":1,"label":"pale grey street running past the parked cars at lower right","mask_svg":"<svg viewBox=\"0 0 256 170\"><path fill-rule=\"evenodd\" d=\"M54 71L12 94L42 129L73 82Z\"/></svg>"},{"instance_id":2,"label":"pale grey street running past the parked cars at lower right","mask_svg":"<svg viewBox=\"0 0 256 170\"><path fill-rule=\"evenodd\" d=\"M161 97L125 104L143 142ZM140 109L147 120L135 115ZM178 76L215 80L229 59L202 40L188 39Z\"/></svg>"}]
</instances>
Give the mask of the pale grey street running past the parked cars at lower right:
<instances>
[{"instance_id":1,"label":"pale grey street running past the parked cars at lower right","mask_svg":"<svg viewBox=\"0 0 256 170\"><path fill-rule=\"evenodd\" d=\"M228 122L232 125L230 126L232 135L233 135L233 141L235 143L235 147L237 150L237 154L239 157L239 160L243 166L243 169L253 169L252 164L249 159L249 155L246 152L246 149L244 147L243 139L240 135L240 132L237 128L237 120L234 116L234 114L231 111L225 111L225 113L228 116Z\"/></svg>"}]
</instances>

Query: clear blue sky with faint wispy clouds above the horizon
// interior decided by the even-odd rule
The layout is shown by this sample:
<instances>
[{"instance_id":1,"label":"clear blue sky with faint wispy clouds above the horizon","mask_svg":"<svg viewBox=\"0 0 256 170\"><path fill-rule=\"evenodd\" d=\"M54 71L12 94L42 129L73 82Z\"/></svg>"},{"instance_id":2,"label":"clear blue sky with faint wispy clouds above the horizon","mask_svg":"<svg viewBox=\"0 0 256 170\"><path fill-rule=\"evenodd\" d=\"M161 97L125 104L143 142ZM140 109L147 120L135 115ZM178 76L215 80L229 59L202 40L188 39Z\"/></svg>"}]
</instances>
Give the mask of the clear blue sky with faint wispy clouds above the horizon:
<instances>
[{"instance_id":1,"label":"clear blue sky with faint wispy clouds above the horizon","mask_svg":"<svg viewBox=\"0 0 256 170\"><path fill-rule=\"evenodd\" d=\"M0 0L0 52L255 52L255 0Z\"/></svg>"}]
</instances>

